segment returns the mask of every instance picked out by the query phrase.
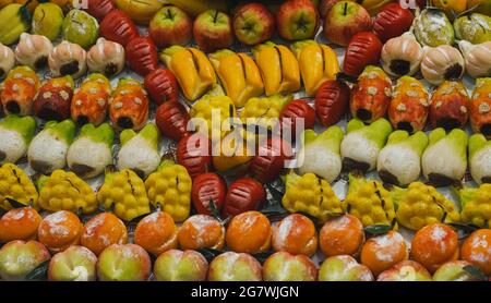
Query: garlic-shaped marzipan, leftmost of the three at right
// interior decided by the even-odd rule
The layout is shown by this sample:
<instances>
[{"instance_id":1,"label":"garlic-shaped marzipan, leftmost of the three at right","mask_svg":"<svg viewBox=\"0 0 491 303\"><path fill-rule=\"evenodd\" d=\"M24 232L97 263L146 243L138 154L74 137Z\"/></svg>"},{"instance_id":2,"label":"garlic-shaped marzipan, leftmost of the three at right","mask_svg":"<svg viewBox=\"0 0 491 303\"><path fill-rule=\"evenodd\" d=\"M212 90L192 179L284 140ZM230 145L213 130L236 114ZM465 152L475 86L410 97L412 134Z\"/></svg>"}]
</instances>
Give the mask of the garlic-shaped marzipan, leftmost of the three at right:
<instances>
[{"instance_id":1,"label":"garlic-shaped marzipan, leftmost of the three at right","mask_svg":"<svg viewBox=\"0 0 491 303\"><path fill-rule=\"evenodd\" d=\"M421 65L422 57L422 47L409 32L385 43L382 68L392 76L414 75Z\"/></svg>"}]
</instances>

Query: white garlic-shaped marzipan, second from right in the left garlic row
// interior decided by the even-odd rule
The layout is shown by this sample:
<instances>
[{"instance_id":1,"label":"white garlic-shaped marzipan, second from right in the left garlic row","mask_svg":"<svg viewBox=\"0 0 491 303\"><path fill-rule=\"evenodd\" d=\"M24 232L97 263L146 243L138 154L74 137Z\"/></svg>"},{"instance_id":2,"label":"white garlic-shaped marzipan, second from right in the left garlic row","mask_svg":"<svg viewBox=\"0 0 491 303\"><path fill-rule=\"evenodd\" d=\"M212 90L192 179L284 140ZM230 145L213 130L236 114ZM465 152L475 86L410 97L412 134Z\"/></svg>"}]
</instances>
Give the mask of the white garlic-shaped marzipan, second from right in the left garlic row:
<instances>
[{"instance_id":1,"label":"white garlic-shaped marzipan, second from right in the left garlic row","mask_svg":"<svg viewBox=\"0 0 491 303\"><path fill-rule=\"evenodd\" d=\"M79 78L87 71L86 57L81 46L62 41L49 53L49 69L53 76L71 75Z\"/></svg>"}]
</instances>

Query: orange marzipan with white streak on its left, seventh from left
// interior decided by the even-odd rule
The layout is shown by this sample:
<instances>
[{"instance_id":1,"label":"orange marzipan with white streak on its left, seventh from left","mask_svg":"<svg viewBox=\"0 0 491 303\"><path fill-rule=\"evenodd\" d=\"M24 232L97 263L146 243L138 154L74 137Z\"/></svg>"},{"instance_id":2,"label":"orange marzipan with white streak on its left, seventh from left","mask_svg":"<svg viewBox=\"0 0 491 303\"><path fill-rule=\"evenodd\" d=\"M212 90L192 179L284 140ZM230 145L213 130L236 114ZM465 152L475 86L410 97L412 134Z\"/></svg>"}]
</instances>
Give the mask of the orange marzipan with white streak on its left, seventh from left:
<instances>
[{"instance_id":1,"label":"orange marzipan with white streak on its left, seventh from left","mask_svg":"<svg viewBox=\"0 0 491 303\"><path fill-rule=\"evenodd\" d=\"M273 225L273 249L294 255L313 255L318 250L318 232L311 219L292 214Z\"/></svg>"}]
</instances>

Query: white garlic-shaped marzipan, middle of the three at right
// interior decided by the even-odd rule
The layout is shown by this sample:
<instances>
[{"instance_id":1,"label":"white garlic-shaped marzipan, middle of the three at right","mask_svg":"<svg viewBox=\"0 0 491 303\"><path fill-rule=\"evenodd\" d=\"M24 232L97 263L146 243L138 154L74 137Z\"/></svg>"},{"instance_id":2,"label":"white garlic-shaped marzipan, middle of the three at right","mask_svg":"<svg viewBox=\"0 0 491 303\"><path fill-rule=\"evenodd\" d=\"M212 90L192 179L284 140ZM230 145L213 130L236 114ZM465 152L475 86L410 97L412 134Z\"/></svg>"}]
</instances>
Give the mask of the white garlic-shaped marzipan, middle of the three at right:
<instances>
[{"instance_id":1,"label":"white garlic-shaped marzipan, middle of the three at right","mask_svg":"<svg viewBox=\"0 0 491 303\"><path fill-rule=\"evenodd\" d=\"M423 77L433 85L440 85L445 80L458 80L464 75L465 61L458 49L443 45L424 47L421 61Z\"/></svg>"}]
</instances>

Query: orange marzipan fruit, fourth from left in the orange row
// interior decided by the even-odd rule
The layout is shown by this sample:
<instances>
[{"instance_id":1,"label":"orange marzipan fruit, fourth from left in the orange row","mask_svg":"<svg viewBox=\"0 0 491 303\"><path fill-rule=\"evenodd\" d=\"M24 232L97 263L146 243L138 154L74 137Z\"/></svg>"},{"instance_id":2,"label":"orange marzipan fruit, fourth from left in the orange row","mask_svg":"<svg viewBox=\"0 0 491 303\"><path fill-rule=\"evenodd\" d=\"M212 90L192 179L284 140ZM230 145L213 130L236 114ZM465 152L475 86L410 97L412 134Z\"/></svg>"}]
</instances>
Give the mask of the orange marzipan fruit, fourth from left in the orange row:
<instances>
[{"instance_id":1,"label":"orange marzipan fruit, fourth from left in the orange row","mask_svg":"<svg viewBox=\"0 0 491 303\"><path fill-rule=\"evenodd\" d=\"M158 256L177 249L178 228L172 217L164 211L155 211L143 218L134 231L134 243Z\"/></svg>"}]
</instances>

